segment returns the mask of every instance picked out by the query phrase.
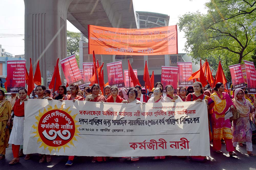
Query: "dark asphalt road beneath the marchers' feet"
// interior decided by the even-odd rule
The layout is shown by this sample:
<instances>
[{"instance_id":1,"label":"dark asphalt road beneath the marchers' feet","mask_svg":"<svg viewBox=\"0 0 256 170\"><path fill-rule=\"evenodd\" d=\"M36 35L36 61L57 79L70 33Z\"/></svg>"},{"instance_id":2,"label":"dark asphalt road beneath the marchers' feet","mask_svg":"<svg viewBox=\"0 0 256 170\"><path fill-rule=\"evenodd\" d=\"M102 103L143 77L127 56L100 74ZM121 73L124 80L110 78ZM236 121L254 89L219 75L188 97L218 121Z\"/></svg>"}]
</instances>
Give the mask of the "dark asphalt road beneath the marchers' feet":
<instances>
[{"instance_id":1,"label":"dark asphalt road beneath the marchers' feet","mask_svg":"<svg viewBox=\"0 0 256 170\"><path fill-rule=\"evenodd\" d=\"M218 169L218 170L256 170L256 157L247 155L246 145L237 147L238 156L229 157L226 146L222 144L222 153L212 151L211 156L207 157L205 162L194 162L188 158L179 158L177 156L168 156L164 160L152 160L152 157L141 158L137 162L119 161L118 159L110 159L108 162L91 163L90 157L80 156L74 159L72 166L66 166L65 163L68 156L52 156L51 163L38 163L38 154L33 154L30 160L25 161L24 157L20 158L20 162L15 165L8 163L13 159L11 146L6 149L6 158L0 160L0 170L9 169L122 169L122 170L164 170L164 169ZM256 153L256 145L253 145L254 153Z\"/></svg>"}]
</instances>

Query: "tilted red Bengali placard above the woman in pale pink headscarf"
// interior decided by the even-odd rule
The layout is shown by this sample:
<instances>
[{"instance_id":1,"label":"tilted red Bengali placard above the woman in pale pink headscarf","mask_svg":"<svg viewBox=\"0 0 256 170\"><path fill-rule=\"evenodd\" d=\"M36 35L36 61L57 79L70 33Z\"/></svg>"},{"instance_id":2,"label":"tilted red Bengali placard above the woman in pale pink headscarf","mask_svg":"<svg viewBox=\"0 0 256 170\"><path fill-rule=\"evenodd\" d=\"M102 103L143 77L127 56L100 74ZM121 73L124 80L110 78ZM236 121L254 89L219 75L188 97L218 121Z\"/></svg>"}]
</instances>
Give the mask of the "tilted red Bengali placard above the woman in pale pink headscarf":
<instances>
[{"instance_id":1,"label":"tilted red Bengali placard above the woman in pale pink headscarf","mask_svg":"<svg viewBox=\"0 0 256 170\"><path fill-rule=\"evenodd\" d=\"M233 89L246 87L243 73L240 64L234 64L232 66L228 66L232 78Z\"/></svg>"}]
</instances>

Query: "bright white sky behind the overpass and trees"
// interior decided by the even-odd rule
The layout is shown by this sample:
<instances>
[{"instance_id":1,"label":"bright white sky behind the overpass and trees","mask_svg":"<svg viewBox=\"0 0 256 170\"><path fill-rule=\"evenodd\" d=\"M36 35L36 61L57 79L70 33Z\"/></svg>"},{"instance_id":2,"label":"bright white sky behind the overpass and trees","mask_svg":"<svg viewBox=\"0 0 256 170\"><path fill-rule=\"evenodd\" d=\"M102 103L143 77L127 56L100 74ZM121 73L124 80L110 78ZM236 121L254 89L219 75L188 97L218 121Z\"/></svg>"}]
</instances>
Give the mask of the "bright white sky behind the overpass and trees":
<instances>
[{"instance_id":1,"label":"bright white sky behind the overpass and trees","mask_svg":"<svg viewBox=\"0 0 256 170\"><path fill-rule=\"evenodd\" d=\"M206 13L204 4L208 0L133 0L135 11L149 11L170 16L169 25L176 25L178 16L197 10ZM0 0L0 44L6 52L24 54L24 1ZM69 21L67 30L79 32ZM185 53L184 32L178 32L178 52Z\"/></svg>"}]
</instances>

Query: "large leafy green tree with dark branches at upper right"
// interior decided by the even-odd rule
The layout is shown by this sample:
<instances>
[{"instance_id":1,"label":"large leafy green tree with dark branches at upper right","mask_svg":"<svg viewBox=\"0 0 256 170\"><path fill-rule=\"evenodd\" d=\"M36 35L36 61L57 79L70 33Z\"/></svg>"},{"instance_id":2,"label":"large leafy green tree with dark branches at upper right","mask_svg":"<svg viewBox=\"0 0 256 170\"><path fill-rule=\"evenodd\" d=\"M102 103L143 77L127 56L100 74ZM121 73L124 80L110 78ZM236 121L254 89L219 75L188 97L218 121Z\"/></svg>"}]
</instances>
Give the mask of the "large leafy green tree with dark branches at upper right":
<instances>
[{"instance_id":1,"label":"large leafy green tree with dark branches at upper right","mask_svg":"<svg viewBox=\"0 0 256 170\"><path fill-rule=\"evenodd\" d=\"M187 38L185 50L196 59L220 59L225 73L229 65L252 60L256 1L211 0L205 6L207 14L197 11L179 17L179 30Z\"/></svg>"}]
</instances>

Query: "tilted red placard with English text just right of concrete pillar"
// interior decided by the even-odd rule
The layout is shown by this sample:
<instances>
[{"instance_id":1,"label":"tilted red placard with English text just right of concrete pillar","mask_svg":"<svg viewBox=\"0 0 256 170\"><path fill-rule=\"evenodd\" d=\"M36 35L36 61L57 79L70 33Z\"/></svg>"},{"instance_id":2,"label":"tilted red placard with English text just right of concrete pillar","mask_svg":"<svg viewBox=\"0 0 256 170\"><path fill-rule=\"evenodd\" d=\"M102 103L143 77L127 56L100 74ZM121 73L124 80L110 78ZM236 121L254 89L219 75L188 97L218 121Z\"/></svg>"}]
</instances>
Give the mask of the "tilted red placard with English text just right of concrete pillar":
<instances>
[{"instance_id":1,"label":"tilted red placard with English text just right of concrete pillar","mask_svg":"<svg viewBox=\"0 0 256 170\"><path fill-rule=\"evenodd\" d=\"M75 55L71 55L65 59L60 60L60 64L69 85L73 83L76 83L78 86L84 85Z\"/></svg>"}]
</instances>

